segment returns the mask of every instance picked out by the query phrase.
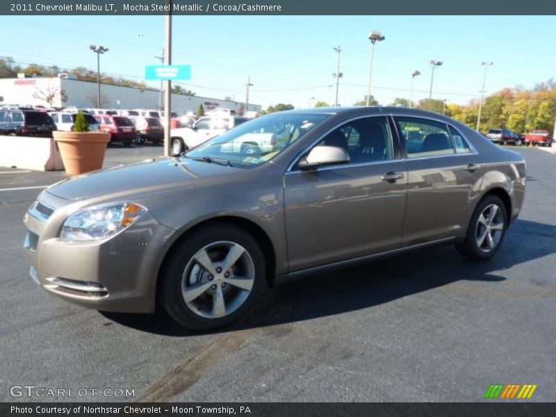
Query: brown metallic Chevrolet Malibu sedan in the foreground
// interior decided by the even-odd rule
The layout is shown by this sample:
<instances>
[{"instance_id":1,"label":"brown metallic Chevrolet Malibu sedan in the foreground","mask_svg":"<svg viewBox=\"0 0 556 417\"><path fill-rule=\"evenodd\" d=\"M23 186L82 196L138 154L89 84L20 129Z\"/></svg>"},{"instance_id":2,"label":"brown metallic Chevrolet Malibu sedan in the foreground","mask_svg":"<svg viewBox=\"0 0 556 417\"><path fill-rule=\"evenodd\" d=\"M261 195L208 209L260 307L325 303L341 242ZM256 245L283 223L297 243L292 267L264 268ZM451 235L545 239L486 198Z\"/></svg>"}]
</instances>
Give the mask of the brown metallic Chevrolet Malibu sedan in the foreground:
<instances>
[{"instance_id":1,"label":"brown metallic Chevrolet Malibu sedan in the foreground","mask_svg":"<svg viewBox=\"0 0 556 417\"><path fill-rule=\"evenodd\" d=\"M426 132L411 151L409 131ZM275 147L229 151L260 133ZM439 244L489 259L524 195L523 156L448 117L284 111L178 158L50 186L25 215L24 252L31 277L74 304L149 313L160 302L181 325L206 330L289 277Z\"/></svg>"}]
</instances>

